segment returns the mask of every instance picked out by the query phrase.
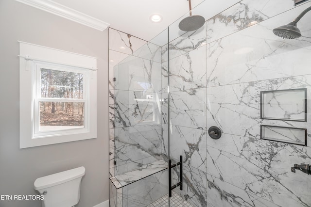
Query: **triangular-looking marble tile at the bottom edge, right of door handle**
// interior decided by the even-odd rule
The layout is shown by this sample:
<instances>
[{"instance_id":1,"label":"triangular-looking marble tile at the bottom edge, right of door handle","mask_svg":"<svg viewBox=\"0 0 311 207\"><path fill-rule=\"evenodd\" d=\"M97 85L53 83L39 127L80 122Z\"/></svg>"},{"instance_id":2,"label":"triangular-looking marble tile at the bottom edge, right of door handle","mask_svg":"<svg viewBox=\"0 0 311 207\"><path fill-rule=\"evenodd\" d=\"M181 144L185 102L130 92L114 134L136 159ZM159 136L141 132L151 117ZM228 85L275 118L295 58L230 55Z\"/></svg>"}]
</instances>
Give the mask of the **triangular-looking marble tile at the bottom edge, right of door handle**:
<instances>
[{"instance_id":1,"label":"triangular-looking marble tile at the bottom edge, right of door handle","mask_svg":"<svg viewBox=\"0 0 311 207\"><path fill-rule=\"evenodd\" d=\"M280 207L207 174L208 207Z\"/></svg>"}]
</instances>

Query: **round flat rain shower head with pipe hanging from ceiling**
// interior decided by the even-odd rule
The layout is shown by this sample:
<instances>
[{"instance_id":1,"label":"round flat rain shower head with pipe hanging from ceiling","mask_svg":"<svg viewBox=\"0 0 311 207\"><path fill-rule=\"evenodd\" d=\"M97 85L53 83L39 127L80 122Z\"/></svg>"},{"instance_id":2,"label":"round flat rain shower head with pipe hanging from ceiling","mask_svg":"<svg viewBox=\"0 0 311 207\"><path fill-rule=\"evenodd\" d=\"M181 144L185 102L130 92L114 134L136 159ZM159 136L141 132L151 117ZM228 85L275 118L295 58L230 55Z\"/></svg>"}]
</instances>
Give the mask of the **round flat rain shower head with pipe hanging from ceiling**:
<instances>
[{"instance_id":1,"label":"round flat rain shower head with pipe hanging from ceiling","mask_svg":"<svg viewBox=\"0 0 311 207\"><path fill-rule=\"evenodd\" d=\"M205 23L205 18L199 15L192 16L191 0L189 1L189 12L190 16L187 16L179 22L179 29L184 32L191 32L201 28Z\"/></svg>"}]
</instances>

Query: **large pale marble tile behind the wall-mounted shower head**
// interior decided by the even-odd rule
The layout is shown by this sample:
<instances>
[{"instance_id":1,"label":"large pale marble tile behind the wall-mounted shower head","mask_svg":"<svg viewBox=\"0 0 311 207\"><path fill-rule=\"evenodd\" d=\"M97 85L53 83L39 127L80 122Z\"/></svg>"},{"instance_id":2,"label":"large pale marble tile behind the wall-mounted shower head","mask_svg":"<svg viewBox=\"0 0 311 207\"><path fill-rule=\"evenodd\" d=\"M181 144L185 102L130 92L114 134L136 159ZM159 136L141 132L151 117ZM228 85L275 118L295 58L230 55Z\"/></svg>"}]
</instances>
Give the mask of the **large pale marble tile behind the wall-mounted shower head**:
<instances>
[{"instance_id":1,"label":"large pale marble tile behind the wall-mounted shower head","mask_svg":"<svg viewBox=\"0 0 311 207\"><path fill-rule=\"evenodd\" d=\"M302 6L307 4L311 5ZM272 32L302 9L299 6L208 44L207 86L310 74L307 68L311 64L311 39L282 39Z\"/></svg>"}]
</instances>

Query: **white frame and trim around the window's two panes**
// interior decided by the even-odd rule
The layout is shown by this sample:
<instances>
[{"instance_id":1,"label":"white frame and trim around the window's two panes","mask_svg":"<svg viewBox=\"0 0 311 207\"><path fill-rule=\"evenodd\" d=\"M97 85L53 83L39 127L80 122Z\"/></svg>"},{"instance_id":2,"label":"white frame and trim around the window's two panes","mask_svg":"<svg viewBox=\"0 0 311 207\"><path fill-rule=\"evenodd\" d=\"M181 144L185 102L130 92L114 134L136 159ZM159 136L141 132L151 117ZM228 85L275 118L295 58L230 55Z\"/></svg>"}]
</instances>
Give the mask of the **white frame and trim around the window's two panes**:
<instances>
[{"instance_id":1,"label":"white frame and trim around the window's two panes","mask_svg":"<svg viewBox=\"0 0 311 207\"><path fill-rule=\"evenodd\" d=\"M81 54L20 42L20 144L19 148L65 143L97 137L96 80L97 59ZM85 102L84 127L38 131L39 101L55 101L40 98L41 68L82 73ZM82 101L83 100L83 101ZM71 102L72 99L62 101Z\"/></svg>"}]
</instances>

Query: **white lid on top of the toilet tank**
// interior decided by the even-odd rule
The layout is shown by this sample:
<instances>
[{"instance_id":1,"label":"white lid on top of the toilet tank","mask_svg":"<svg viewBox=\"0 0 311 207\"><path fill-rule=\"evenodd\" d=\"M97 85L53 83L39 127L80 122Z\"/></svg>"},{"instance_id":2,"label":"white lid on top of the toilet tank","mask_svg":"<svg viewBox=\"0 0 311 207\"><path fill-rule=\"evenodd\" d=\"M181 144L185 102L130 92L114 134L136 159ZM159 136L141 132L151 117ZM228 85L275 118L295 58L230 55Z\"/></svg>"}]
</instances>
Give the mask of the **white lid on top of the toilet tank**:
<instances>
[{"instance_id":1,"label":"white lid on top of the toilet tank","mask_svg":"<svg viewBox=\"0 0 311 207\"><path fill-rule=\"evenodd\" d=\"M51 186L59 185L78 177L82 177L86 174L85 167L78 167L71 170L67 170L44 177L39 177L35 180L35 190L49 188Z\"/></svg>"}]
</instances>

